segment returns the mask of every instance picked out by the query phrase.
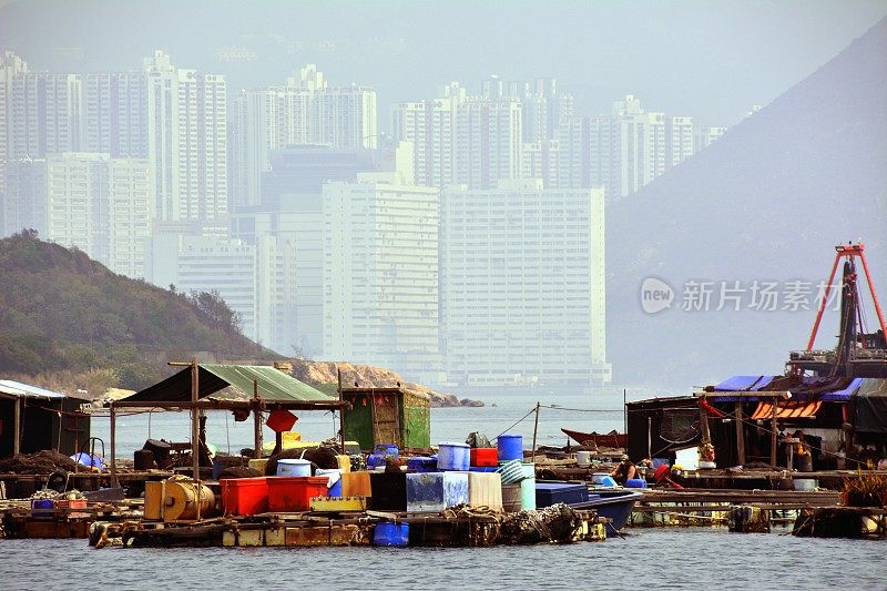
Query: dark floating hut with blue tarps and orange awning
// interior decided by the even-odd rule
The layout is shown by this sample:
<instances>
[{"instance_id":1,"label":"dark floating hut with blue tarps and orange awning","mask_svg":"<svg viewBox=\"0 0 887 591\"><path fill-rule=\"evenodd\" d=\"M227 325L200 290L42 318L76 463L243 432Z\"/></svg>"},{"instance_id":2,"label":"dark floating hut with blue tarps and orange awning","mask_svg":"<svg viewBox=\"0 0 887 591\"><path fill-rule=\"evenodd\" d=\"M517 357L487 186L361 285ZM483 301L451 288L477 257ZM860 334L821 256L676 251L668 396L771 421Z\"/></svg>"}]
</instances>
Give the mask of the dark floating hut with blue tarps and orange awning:
<instances>
[{"instance_id":1,"label":"dark floating hut with blue tarps and orange awning","mask_svg":"<svg viewBox=\"0 0 887 591\"><path fill-rule=\"evenodd\" d=\"M887 454L887 380L817 376L733 376L692 397L626 405L632 458L670 457L713 445L718 467L793 465L791 436L802 430L813 470L843 468L869 447Z\"/></svg>"}]
</instances>

